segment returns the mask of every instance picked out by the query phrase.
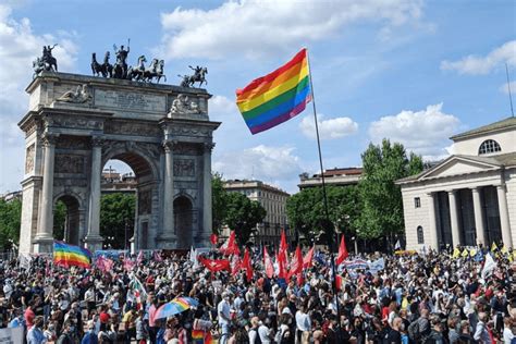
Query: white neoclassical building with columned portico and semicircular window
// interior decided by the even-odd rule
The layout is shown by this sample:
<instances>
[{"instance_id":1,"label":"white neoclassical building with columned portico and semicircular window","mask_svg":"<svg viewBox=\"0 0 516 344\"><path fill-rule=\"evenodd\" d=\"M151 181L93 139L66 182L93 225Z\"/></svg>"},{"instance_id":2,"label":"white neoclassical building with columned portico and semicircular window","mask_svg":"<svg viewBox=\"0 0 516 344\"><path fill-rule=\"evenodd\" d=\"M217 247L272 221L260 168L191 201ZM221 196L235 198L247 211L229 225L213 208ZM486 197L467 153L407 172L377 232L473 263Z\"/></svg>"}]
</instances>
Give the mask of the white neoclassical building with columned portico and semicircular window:
<instances>
[{"instance_id":1,"label":"white neoclassical building with columned portico and semicircular window","mask_svg":"<svg viewBox=\"0 0 516 344\"><path fill-rule=\"evenodd\" d=\"M455 153L402 187L407 249L516 243L516 118L452 136Z\"/></svg>"}]
</instances>

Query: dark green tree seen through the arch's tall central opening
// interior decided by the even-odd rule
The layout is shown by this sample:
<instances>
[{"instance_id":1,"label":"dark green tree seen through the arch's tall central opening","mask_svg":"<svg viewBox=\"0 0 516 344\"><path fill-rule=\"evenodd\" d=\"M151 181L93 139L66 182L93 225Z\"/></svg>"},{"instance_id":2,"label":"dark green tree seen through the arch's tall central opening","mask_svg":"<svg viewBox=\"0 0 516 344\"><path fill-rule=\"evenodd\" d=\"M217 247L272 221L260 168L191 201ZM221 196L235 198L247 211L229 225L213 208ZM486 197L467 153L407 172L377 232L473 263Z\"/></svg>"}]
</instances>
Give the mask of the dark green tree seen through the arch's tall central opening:
<instances>
[{"instance_id":1,"label":"dark green tree seen through the arch's tall central opening","mask_svg":"<svg viewBox=\"0 0 516 344\"><path fill-rule=\"evenodd\" d=\"M100 235L112 248L125 248L123 238L128 241L133 235L135 202L134 194L114 193L100 198ZM107 237L114 239L108 241Z\"/></svg>"}]
</instances>

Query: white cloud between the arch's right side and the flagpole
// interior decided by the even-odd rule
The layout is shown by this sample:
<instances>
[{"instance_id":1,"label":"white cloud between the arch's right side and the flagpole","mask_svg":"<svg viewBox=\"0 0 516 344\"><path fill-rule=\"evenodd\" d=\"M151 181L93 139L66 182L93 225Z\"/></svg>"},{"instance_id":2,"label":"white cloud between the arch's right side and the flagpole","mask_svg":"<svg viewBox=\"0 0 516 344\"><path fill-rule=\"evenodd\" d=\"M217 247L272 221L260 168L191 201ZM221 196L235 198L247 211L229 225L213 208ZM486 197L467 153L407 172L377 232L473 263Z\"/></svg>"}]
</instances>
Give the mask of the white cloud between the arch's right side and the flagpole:
<instances>
[{"instance_id":1,"label":"white cloud between the arch's right side and the flagpole","mask_svg":"<svg viewBox=\"0 0 516 344\"><path fill-rule=\"evenodd\" d=\"M213 171L224 179L254 179L280 184L302 171L293 147L259 145L243 151L228 151L213 162Z\"/></svg>"}]
</instances>

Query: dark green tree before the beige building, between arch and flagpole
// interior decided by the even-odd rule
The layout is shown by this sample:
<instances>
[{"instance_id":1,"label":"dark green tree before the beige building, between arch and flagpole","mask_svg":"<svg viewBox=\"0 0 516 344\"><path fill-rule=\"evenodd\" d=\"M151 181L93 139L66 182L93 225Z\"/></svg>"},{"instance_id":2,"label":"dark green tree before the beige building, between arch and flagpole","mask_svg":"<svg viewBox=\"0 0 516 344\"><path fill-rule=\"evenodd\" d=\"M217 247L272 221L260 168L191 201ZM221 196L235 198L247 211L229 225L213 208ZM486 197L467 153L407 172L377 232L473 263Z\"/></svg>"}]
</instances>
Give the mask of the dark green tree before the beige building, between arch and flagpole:
<instances>
[{"instance_id":1,"label":"dark green tree before the beige building, between arch and flagpole","mask_svg":"<svg viewBox=\"0 0 516 344\"><path fill-rule=\"evenodd\" d=\"M234 230L238 243L245 245L256 225L263 221L267 211L258 201L250 200L239 193L228 193L225 201L223 224Z\"/></svg>"}]
</instances>

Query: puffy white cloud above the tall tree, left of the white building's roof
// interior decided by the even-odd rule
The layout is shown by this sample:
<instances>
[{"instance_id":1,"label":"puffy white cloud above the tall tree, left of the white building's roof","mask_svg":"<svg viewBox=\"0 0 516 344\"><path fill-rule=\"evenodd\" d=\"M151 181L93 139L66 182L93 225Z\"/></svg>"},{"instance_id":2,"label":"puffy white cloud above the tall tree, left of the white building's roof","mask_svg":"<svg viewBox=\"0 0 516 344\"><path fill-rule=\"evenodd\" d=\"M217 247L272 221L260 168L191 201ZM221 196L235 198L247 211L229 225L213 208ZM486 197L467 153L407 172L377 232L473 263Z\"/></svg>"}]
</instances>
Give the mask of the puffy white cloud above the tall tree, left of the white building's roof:
<instances>
[{"instance_id":1,"label":"puffy white cloud above the tall tree, left of the white building's roof","mask_svg":"<svg viewBox=\"0 0 516 344\"><path fill-rule=\"evenodd\" d=\"M460 121L442 112L442 103L428 106L420 111L404 110L395 115L383 116L369 126L372 142L382 138L401 143L406 149L423 157L442 157L451 149L449 137L458 127Z\"/></svg>"}]
</instances>

